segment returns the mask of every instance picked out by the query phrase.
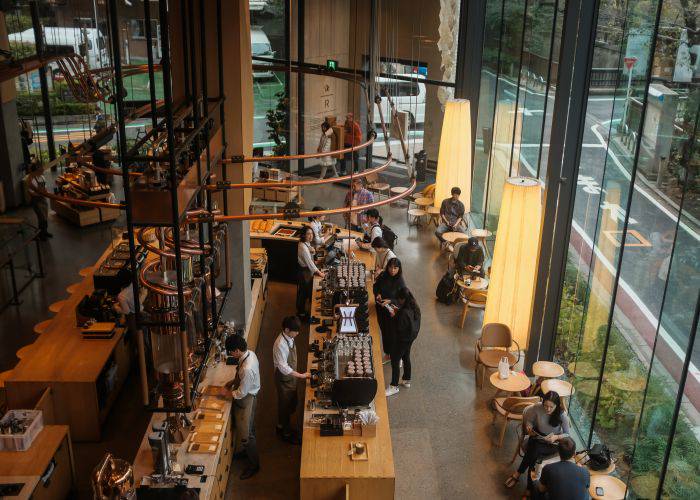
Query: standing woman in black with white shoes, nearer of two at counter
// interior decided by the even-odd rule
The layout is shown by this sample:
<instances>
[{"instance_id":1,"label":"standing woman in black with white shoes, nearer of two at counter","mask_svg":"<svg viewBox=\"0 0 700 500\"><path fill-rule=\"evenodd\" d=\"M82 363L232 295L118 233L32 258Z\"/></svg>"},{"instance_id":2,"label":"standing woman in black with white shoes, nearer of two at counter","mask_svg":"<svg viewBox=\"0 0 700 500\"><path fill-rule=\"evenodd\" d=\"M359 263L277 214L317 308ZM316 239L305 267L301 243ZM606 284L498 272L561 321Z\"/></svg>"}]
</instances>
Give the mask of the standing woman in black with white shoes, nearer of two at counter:
<instances>
[{"instance_id":1,"label":"standing woman in black with white shoes, nearer of two at counter","mask_svg":"<svg viewBox=\"0 0 700 500\"><path fill-rule=\"evenodd\" d=\"M418 337L420 330L420 307L408 288L401 288L396 294L396 307L391 312L394 330L391 348L391 383L386 389L386 395L392 396L399 392L399 384L405 388L411 387L411 346ZM403 377L399 380L403 363Z\"/></svg>"}]
</instances>

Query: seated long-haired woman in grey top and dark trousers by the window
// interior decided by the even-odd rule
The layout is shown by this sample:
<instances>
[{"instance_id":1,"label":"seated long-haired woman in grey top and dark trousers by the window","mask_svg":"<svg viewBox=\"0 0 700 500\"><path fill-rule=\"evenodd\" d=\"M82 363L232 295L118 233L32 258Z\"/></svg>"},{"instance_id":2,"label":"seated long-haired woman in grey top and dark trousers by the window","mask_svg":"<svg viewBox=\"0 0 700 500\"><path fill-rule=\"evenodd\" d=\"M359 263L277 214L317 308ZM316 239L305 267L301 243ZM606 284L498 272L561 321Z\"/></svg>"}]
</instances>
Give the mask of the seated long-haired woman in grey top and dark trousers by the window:
<instances>
[{"instance_id":1,"label":"seated long-haired woman in grey top and dark trousers by the window","mask_svg":"<svg viewBox=\"0 0 700 500\"><path fill-rule=\"evenodd\" d=\"M569 416L562 407L559 394L549 391L541 403L534 404L523 413L523 431L528 435L525 454L518 470L506 479L506 487L512 488L521 474L542 458L556 455L557 441L569 435Z\"/></svg>"}]
</instances>

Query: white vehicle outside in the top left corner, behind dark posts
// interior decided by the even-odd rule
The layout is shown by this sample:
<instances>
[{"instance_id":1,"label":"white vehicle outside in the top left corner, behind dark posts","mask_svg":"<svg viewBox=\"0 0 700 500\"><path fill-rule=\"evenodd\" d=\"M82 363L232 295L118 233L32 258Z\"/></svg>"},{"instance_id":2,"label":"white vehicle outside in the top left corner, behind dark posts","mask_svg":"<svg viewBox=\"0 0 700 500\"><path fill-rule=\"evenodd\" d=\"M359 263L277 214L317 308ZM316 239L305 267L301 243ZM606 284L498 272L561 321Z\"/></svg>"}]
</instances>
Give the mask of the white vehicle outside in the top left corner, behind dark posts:
<instances>
[{"instance_id":1,"label":"white vehicle outside in the top left corner, behind dark posts","mask_svg":"<svg viewBox=\"0 0 700 500\"><path fill-rule=\"evenodd\" d=\"M14 43L36 44L32 28L20 33L11 33L8 35L8 39ZM105 37L96 28L46 26L44 27L44 43L48 50L66 47L73 49L73 52L85 59L91 69L110 64ZM50 64L49 67L54 72L58 69L55 63Z\"/></svg>"}]
</instances>

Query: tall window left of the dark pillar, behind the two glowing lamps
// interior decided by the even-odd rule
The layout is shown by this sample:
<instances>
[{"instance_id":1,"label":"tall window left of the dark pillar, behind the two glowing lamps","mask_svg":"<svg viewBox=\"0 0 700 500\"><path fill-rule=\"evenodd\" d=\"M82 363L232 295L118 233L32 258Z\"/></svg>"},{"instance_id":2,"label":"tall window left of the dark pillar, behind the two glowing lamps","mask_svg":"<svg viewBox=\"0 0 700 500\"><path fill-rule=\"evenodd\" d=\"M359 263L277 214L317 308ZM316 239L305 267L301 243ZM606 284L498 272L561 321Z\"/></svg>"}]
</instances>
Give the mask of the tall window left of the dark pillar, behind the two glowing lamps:
<instances>
[{"instance_id":1,"label":"tall window left of the dark pillar, behind the two glowing lamps","mask_svg":"<svg viewBox=\"0 0 700 500\"><path fill-rule=\"evenodd\" d=\"M503 184L544 178L565 0L487 0L471 217L495 231Z\"/></svg>"}]
</instances>

